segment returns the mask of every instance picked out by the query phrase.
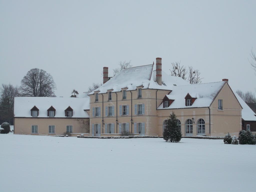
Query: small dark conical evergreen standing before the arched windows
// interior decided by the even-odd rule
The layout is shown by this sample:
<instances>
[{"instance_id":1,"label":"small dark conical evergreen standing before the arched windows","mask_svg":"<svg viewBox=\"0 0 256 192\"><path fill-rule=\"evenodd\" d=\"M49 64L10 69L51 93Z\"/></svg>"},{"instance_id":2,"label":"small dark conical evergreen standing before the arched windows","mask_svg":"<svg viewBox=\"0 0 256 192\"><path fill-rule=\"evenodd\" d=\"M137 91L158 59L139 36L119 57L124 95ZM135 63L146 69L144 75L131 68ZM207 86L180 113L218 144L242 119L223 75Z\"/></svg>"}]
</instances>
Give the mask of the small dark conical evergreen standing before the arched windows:
<instances>
[{"instance_id":1,"label":"small dark conical evergreen standing before the arched windows","mask_svg":"<svg viewBox=\"0 0 256 192\"><path fill-rule=\"evenodd\" d=\"M177 118L174 112L167 120L167 127L164 129L163 138L167 142L179 142L182 138L182 133L177 125Z\"/></svg>"}]
</instances>

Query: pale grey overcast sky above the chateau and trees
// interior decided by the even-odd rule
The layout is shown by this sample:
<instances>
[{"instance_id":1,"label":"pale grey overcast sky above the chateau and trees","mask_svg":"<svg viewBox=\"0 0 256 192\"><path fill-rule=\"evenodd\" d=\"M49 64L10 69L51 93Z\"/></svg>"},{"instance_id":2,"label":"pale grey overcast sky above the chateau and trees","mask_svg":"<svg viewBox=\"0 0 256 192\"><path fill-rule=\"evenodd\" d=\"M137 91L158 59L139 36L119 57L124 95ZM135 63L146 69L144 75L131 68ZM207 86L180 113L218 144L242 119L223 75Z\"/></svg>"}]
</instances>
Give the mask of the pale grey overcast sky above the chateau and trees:
<instances>
[{"instance_id":1,"label":"pale grey overcast sky above the chateau and trees","mask_svg":"<svg viewBox=\"0 0 256 192\"><path fill-rule=\"evenodd\" d=\"M87 91L119 61L148 65L162 57L201 71L202 82L229 79L254 91L248 59L256 53L256 1L2 1L0 83L20 85L44 69L56 95Z\"/></svg>"}]
</instances>

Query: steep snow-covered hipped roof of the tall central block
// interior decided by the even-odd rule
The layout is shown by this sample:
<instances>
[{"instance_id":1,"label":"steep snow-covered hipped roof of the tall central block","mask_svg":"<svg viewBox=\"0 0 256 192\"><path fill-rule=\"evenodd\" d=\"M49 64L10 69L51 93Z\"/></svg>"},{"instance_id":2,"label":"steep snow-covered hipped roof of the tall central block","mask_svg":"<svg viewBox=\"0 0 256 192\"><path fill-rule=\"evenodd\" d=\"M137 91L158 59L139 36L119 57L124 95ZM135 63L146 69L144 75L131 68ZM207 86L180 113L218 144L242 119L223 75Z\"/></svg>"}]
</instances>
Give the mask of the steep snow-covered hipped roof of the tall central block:
<instances>
[{"instance_id":1,"label":"steep snow-covered hipped roof of the tall central block","mask_svg":"<svg viewBox=\"0 0 256 192\"><path fill-rule=\"evenodd\" d=\"M174 85L188 84L184 79L167 75L164 71L162 71L162 83L162 85L158 85L156 82L155 65L152 64L123 69L94 91L100 91L99 93L106 93L108 90L119 92L122 88L127 88L127 91L130 91L136 90L136 87L140 86L143 86L142 89L172 90ZM94 94L94 91L89 95Z\"/></svg>"}]
</instances>

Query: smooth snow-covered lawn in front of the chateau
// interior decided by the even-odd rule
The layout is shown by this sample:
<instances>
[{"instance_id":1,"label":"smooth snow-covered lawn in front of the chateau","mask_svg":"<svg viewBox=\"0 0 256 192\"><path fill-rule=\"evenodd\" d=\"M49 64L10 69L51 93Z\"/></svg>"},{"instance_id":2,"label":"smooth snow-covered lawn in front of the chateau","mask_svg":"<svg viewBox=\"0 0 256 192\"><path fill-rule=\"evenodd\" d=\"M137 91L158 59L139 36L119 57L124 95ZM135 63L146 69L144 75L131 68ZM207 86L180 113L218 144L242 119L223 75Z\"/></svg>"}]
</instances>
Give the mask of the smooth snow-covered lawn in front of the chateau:
<instances>
[{"instance_id":1,"label":"smooth snow-covered lawn in front of the chateau","mask_svg":"<svg viewBox=\"0 0 256 192\"><path fill-rule=\"evenodd\" d=\"M0 191L255 191L255 145L0 134Z\"/></svg>"}]
</instances>

